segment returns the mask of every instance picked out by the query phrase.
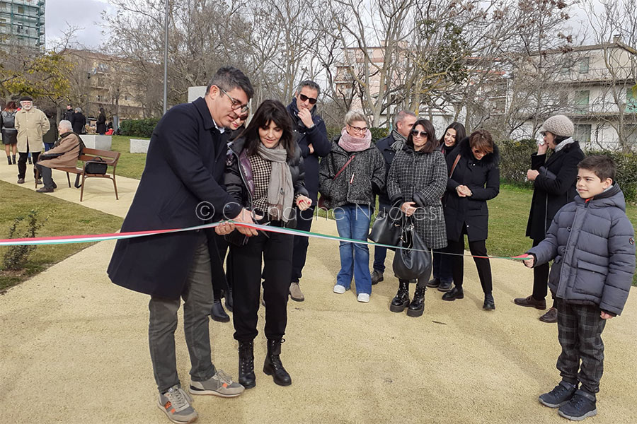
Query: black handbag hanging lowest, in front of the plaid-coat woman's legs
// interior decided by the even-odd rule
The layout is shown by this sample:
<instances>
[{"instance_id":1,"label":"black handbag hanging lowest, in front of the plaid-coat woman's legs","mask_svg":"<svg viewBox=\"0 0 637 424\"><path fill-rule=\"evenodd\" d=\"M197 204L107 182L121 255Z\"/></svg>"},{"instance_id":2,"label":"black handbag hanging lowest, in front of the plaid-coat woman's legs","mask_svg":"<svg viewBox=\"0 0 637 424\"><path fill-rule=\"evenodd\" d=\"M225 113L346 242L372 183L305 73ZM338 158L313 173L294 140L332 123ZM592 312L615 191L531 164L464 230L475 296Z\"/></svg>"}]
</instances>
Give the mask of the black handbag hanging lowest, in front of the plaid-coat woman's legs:
<instances>
[{"instance_id":1,"label":"black handbag hanging lowest, in front of the plaid-coat woman's legs","mask_svg":"<svg viewBox=\"0 0 637 424\"><path fill-rule=\"evenodd\" d=\"M401 280L417 280L431 268L429 248L416 232L411 217L403 220L401 237L394 254L394 274Z\"/></svg>"}]
</instances>

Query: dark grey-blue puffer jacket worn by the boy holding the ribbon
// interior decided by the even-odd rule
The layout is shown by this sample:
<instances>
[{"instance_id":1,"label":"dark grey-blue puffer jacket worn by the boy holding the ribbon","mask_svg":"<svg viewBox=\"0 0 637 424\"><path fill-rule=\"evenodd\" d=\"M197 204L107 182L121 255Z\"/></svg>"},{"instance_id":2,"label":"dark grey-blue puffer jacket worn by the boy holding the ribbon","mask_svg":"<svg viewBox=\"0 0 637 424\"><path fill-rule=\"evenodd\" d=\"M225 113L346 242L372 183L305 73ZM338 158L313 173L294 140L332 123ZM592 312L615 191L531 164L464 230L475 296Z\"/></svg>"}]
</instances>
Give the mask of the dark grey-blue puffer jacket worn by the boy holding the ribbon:
<instances>
[{"instance_id":1,"label":"dark grey-blue puffer jacket worn by the boy holding the ribbon","mask_svg":"<svg viewBox=\"0 0 637 424\"><path fill-rule=\"evenodd\" d=\"M555 259L549 288L556 298L619 315L635 273L634 237L624 193L614 184L590 201L575 196L528 253L537 259L534 266Z\"/></svg>"}]
</instances>

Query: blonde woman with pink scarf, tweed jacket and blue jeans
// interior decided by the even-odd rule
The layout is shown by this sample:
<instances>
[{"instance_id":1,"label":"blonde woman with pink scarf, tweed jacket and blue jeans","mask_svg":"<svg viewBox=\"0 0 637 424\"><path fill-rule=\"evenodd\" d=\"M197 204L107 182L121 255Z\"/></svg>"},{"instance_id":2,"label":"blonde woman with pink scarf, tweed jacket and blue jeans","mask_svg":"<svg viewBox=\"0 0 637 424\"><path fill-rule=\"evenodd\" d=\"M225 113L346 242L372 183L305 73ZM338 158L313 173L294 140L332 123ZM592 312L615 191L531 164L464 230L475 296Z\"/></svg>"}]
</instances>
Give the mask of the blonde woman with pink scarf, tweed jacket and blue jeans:
<instances>
[{"instance_id":1,"label":"blonde woman with pink scarf, tweed jacket and blue jeans","mask_svg":"<svg viewBox=\"0 0 637 424\"><path fill-rule=\"evenodd\" d=\"M319 192L333 208L340 237L367 240L375 195L385 185L385 160L372 144L367 118L360 110L345 115L345 128L332 141L331 152L321 160ZM340 271L334 293L345 293L355 281L357 300L369 302L372 276L367 245L340 242Z\"/></svg>"}]
</instances>

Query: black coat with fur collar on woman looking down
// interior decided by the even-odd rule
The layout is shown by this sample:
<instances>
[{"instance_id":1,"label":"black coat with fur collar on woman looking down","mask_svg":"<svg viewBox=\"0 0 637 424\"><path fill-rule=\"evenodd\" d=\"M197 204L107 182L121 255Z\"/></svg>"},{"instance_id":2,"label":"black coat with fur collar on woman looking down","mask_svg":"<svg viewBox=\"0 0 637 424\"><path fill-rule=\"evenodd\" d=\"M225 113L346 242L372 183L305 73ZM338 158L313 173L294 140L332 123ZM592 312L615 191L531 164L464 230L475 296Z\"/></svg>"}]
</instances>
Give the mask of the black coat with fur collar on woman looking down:
<instances>
[{"instance_id":1,"label":"black coat with fur collar on woman looking down","mask_svg":"<svg viewBox=\"0 0 637 424\"><path fill-rule=\"evenodd\" d=\"M460 155L460 160L453 175L447 181L447 192L443 199L447 237L449 240L460 240L462 226L466 225L466 234L470 242L486 240L489 228L489 210L486 201L498 196L500 192L498 146L494 145L493 153L477 160L469 147L469 137L466 137L447 156L449 171L457 155ZM469 187L473 196L458 196L456 187L459 185Z\"/></svg>"}]
</instances>

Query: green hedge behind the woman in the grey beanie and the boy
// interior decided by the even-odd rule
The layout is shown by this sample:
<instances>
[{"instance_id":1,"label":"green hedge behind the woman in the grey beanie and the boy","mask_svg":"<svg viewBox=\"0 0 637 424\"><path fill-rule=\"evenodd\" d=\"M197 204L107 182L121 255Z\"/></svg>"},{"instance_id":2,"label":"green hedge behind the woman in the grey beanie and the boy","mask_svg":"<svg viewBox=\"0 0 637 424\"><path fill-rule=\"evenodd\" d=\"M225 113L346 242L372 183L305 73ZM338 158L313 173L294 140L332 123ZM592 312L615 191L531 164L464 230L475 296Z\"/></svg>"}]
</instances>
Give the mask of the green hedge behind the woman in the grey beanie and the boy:
<instances>
[{"instance_id":1,"label":"green hedge behind the woman in the grey beanie and the boy","mask_svg":"<svg viewBox=\"0 0 637 424\"><path fill-rule=\"evenodd\" d=\"M526 181L531 165L531 153L537 151L535 140L505 140L498 143L500 148L500 179L511 184L533 187ZM617 182L624 192L626 201L637 201L637 155L614 151L585 151L586 155L607 155L617 165Z\"/></svg>"}]
</instances>

